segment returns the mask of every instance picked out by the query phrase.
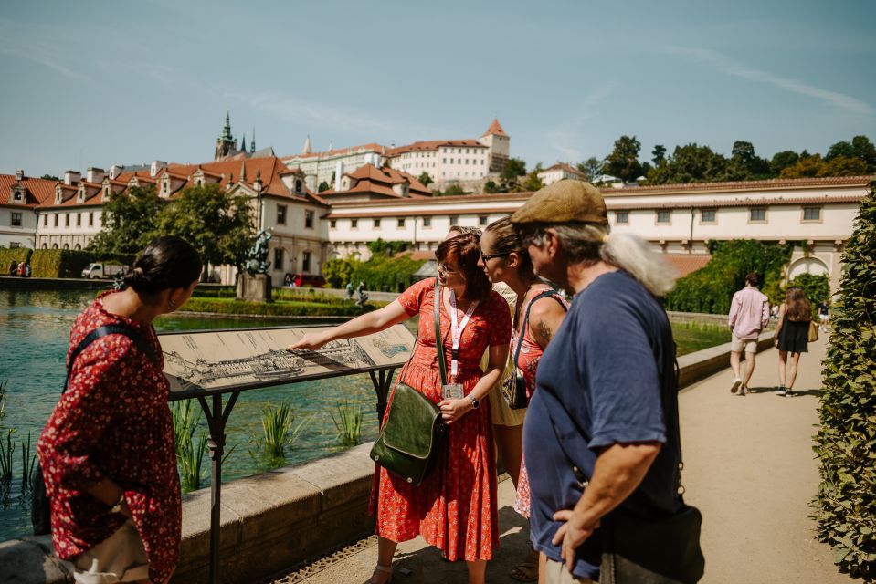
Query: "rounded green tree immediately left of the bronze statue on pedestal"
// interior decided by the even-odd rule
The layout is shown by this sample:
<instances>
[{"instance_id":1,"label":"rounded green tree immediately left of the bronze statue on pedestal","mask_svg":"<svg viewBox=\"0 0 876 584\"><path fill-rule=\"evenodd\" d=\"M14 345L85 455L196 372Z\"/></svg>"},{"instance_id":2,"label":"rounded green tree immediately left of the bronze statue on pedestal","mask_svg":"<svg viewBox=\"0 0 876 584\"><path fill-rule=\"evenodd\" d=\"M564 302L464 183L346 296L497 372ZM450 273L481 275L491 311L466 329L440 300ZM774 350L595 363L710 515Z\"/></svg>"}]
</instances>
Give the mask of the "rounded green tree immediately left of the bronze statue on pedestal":
<instances>
[{"instance_id":1,"label":"rounded green tree immediately left of the bronze statue on pedestal","mask_svg":"<svg viewBox=\"0 0 876 584\"><path fill-rule=\"evenodd\" d=\"M158 227L164 235L185 239L213 266L243 266L255 235L250 199L218 184L184 189L164 209Z\"/></svg>"}]
</instances>

